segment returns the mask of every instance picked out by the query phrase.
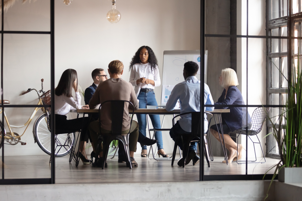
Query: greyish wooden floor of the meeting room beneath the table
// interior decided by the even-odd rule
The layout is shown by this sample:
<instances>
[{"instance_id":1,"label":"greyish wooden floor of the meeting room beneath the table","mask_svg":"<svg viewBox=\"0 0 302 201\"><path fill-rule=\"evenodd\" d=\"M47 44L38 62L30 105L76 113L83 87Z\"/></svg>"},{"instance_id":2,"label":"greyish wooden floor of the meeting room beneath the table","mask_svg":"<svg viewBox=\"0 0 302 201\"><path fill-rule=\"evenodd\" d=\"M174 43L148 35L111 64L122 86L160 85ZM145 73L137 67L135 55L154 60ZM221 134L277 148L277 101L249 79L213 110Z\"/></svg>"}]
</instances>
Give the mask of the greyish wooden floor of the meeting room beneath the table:
<instances>
[{"instance_id":1,"label":"greyish wooden floor of the meeting room beneath the table","mask_svg":"<svg viewBox=\"0 0 302 201\"><path fill-rule=\"evenodd\" d=\"M56 158L56 183L122 183L122 182L163 182L163 181L198 181L199 164L193 166L192 162L179 167L177 162L171 166L171 161L155 161L134 155L138 167L130 170L126 163L108 161L108 168L94 168L92 165L79 166L75 162L69 163L69 157ZM117 159L114 158L113 160ZM263 160L263 159L262 159ZM226 165L222 163L223 157L214 157L211 167L205 163L205 175L245 174L245 164L236 162ZM279 160L266 158L265 163L248 164L248 174L264 174ZM50 165L48 155L36 156L7 156L5 157L5 178L50 178ZM269 173L273 174L273 170ZM0 174L1 175L1 174ZM0 177L2 178L2 177Z\"/></svg>"}]
</instances>

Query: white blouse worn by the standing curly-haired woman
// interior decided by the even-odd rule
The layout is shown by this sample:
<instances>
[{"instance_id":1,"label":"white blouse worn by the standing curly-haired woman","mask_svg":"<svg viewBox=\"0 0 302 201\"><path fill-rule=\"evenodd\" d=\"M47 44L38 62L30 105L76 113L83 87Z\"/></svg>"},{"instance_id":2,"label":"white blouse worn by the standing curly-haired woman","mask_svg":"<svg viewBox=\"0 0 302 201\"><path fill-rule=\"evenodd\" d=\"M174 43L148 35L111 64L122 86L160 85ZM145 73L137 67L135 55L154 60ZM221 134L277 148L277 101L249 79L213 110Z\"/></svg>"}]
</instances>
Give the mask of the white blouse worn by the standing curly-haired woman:
<instances>
[{"instance_id":1,"label":"white blouse worn by the standing curly-haired woman","mask_svg":"<svg viewBox=\"0 0 302 201\"><path fill-rule=\"evenodd\" d=\"M152 84L146 84L146 83L136 84L136 80L140 79L141 77L146 77L146 79L154 80L155 86L160 86L158 67L156 68L155 71L154 70L151 71L151 64L149 62L146 64L142 64L142 63L134 64L131 68L129 82L134 86L134 91L136 93L136 96L138 96L138 94L140 93L141 88L149 88L149 89L155 88L155 86L153 86Z\"/></svg>"}]
</instances>

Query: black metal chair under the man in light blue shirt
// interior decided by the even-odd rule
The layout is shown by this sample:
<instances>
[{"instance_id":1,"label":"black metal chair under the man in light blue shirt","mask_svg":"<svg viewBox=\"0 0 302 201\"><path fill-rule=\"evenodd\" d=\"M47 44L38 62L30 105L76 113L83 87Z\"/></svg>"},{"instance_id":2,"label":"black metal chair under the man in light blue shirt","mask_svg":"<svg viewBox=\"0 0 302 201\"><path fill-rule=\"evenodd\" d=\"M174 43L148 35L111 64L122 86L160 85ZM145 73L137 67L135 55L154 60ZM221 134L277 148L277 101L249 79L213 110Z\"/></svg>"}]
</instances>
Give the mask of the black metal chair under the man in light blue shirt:
<instances>
[{"instance_id":1,"label":"black metal chair under the man in light blue shirt","mask_svg":"<svg viewBox=\"0 0 302 201\"><path fill-rule=\"evenodd\" d=\"M174 164L174 160L175 160L175 155L176 155L176 149L177 149L177 144L179 140L182 140L182 144L183 144L183 149L182 149L182 155L183 155L183 165L182 167L185 167L185 162L187 160L188 157L188 152L189 152L189 146L190 146L190 142L196 142L199 141L200 143L200 133L201 133L201 129L200 129L200 112L186 112L186 113L182 113L180 115L186 115L186 114L191 114L192 116L192 120L191 120L191 133L190 134L182 134L180 136L177 136L175 139L175 143L174 143L174 149L173 149L173 154L172 154L172 163L171 165ZM173 119L173 126L174 126L174 119L180 115L176 115ZM199 144L200 146L200 144ZM206 136L204 136L204 153L206 154L206 160L208 163L208 167L210 167L210 161L209 161L209 156L208 156L208 150L206 147ZM203 156L202 156L203 157Z\"/></svg>"}]
</instances>

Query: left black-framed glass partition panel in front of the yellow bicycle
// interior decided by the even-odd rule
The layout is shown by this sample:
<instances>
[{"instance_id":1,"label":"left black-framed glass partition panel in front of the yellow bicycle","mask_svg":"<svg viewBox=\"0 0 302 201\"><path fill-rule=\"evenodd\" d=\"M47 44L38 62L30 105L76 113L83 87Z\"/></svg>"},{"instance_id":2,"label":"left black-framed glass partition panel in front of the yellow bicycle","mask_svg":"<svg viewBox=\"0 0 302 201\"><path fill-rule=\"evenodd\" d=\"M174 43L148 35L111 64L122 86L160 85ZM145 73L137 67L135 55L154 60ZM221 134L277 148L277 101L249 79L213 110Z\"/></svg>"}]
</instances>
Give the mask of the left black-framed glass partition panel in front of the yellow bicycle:
<instances>
[{"instance_id":1,"label":"left black-framed glass partition panel in front of the yellow bicycle","mask_svg":"<svg viewBox=\"0 0 302 201\"><path fill-rule=\"evenodd\" d=\"M35 110L40 103L37 91L42 87L43 92L51 89L54 97L54 0L38 2L36 6L48 10L48 15L31 15L35 8L22 2L6 12L2 7L0 184L52 184L55 179L54 157L50 165L49 157L45 161L32 155L32 152L44 153L34 143L34 124L43 114L41 108ZM32 27L22 23L27 21L32 22ZM44 79L43 86L41 79ZM52 105L44 107L53 110ZM54 130L53 125L50 127ZM49 141L53 144L54 135ZM24 146L22 154L16 146ZM48 168L42 170L40 165Z\"/></svg>"}]
</instances>

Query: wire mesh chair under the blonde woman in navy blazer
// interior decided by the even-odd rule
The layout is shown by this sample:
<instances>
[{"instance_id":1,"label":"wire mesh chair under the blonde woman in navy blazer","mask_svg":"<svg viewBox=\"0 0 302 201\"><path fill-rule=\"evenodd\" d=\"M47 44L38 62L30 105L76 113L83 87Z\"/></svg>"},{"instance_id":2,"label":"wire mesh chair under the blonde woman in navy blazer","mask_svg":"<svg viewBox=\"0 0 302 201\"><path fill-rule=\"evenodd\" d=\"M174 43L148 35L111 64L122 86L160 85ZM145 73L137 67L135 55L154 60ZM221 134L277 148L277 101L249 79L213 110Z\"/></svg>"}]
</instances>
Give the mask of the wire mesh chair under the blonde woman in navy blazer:
<instances>
[{"instance_id":1,"label":"wire mesh chair under the blonde woman in navy blazer","mask_svg":"<svg viewBox=\"0 0 302 201\"><path fill-rule=\"evenodd\" d=\"M266 119L266 116L268 114L268 111L270 110L269 107L259 107L259 108L256 108L254 111L253 111L253 115L252 115L252 126L250 129L239 129L239 130L235 130L233 131L232 133L236 133L238 135L236 135L236 138L237 138L237 142L238 142L238 137L239 135L247 135L249 137L249 139L252 141L253 143L253 146L254 146L254 152L255 152L255 160L252 160L252 161L248 161L248 162L251 162L251 163L265 163L266 160L265 160L265 155L264 155L264 152L263 152L263 149L261 147L261 143L260 143L260 140L257 136L258 133L260 133L260 131L262 130L262 127L263 127L263 123ZM250 136L253 136L255 135L258 139L258 142L254 142ZM264 162L256 162L257 161L257 157L256 157L256 149L255 149L255 144L259 144L260 145L260 148L261 148L261 151L262 151L262 154L263 154L263 158L264 158ZM241 164L241 163L238 163L238 162L246 162L246 161L238 161L238 143L237 143L237 160L236 160L237 164Z\"/></svg>"}]
</instances>

